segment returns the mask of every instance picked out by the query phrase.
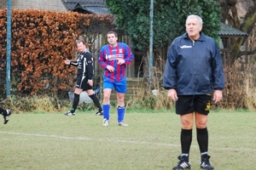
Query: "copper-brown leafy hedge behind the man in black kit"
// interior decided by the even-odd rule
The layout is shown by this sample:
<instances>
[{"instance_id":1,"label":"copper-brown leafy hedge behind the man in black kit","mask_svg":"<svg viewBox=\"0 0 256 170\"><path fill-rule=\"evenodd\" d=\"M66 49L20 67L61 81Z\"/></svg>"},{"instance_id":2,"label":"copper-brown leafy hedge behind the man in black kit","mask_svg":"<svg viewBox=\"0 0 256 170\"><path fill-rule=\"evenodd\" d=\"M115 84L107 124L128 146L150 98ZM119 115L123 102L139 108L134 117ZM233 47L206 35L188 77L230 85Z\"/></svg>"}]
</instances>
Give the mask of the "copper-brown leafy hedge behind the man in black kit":
<instances>
[{"instance_id":1,"label":"copper-brown leafy hedge behind the man in black kit","mask_svg":"<svg viewBox=\"0 0 256 170\"><path fill-rule=\"evenodd\" d=\"M6 14L6 9L0 10L1 60L5 60L6 57ZM84 34L82 28L87 28L86 36L90 37L90 32L96 33L95 25L110 26L112 22L111 15L55 12L32 8L13 9L11 76L18 78L12 86L15 85L23 94L37 94L44 88L57 92L72 86L75 69L69 69L69 66L64 65L63 60L73 59L76 53L75 38Z\"/></svg>"}]
</instances>

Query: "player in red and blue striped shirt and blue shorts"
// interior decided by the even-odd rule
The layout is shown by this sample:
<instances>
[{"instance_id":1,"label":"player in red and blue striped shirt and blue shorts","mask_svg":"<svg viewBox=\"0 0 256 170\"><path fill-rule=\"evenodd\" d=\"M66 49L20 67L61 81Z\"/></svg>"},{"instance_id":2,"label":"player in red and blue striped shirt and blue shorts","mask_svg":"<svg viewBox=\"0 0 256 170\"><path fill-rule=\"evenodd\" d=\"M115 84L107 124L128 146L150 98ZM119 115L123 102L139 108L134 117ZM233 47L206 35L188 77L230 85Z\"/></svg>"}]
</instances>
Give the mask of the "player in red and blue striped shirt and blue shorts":
<instances>
[{"instance_id":1,"label":"player in red and blue striped shirt and blue shorts","mask_svg":"<svg viewBox=\"0 0 256 170\"><path fill-rule=\"evenodd\" d=\"M109 124L110 96L112 89L117 93L117 112L119 126L128 126L125 118L125 93L126 93L126 65L130 65L133 59L131 48L117 42L118 35L114 31L107 34L108 44L101 48L99 65L104 69L103 73L103 126Z\"/></svg>"}]
</instances>

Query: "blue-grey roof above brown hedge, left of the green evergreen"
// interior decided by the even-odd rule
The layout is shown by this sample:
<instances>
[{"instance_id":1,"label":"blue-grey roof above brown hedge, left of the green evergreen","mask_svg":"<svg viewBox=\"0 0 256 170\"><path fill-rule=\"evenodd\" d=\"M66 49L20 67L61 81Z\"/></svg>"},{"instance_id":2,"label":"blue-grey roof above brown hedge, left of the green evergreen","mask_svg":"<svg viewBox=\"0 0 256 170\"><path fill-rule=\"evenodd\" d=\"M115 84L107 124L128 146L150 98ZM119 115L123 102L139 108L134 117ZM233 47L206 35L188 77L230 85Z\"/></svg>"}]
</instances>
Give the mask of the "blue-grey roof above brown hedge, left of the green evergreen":
<instances>
[{"instance_id":1,"label":"blue-grey roof above brown hedge, left of the green evergreen","mask_svg":"<svg viewBox=\"0 0 256 170\"><path fill-rule=\"evenodd\" d=\"M89 14L110 14L103 0L62 0L67 10Z\"/></svg>"}]
</instances>

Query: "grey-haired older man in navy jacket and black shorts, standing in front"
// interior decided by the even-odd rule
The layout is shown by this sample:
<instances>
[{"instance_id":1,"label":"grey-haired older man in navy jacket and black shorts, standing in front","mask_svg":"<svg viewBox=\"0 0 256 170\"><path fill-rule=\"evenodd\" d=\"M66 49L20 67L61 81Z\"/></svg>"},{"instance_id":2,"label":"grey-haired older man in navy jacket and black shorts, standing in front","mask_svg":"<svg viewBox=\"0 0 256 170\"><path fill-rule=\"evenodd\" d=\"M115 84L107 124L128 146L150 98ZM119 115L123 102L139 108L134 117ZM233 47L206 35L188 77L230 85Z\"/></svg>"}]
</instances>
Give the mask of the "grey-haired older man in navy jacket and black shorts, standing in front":
<instances>
[{"instance_id":1,"label":"grey-haired older man in navy jacket and black shorts, standing in front","mask_svg":"<svg viewBox=\"0 0 256 170\"><path fill-rule=\"evenodd\" d=\"M212 100L217 104L222 99L223 62L217 43L201 31L200 16L189 15L185 26L186 33L177 37L168 50L163 81L168 98L176 101L176 113L180 115L182 125L182 154L173 169L190 169L189 150L194 117L201 168L213 169L208 156L207 115Z\"/></svg>"}]
</instances>

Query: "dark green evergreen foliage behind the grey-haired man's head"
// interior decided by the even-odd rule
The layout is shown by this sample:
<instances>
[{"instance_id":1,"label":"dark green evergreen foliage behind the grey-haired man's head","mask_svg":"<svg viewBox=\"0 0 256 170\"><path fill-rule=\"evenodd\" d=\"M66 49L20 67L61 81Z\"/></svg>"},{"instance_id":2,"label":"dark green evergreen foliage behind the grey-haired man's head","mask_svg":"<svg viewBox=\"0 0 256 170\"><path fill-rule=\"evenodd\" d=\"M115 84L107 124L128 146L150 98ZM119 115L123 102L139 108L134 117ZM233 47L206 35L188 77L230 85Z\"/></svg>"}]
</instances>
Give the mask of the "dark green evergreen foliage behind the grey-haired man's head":
<instances>
[{"instance_id":1,"label":"dark green evergreen foliage behind the grey-haired man's head","mask_svg":"<svg viewBox=\"0 0 256 170\"><path fill-rule=\"evenodd\" d=\"M131 37L132 46L147 50L149 46L149 1L105 0L115 16L115 24ZM217 1L160 0L154 1L154 48L166 47L184 33L189 14L200 15L204 32L217 39L220 30L220 8Z\"/></svg>"}]
</instances>

